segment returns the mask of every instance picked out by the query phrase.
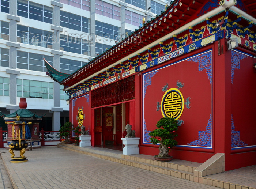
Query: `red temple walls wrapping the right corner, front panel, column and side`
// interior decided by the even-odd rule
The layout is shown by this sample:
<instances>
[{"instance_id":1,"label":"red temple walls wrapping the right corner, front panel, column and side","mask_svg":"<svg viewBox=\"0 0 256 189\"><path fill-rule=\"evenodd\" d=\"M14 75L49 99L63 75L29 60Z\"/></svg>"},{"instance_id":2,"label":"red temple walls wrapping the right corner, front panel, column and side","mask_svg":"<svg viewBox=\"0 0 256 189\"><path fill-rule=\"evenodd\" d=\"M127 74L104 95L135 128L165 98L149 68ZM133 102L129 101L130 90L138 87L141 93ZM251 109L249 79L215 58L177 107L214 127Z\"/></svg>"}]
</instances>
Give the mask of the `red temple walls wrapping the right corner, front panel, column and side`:
<instances>
[{"instance_id":1,"label":"red temple walls wrapping the right corner, front panel, column and side","mask_svg":"<svg viewBox=\"0 0 256 189\"><path fill-rule=\"evenodd\" d=\"M185 105L178 119L182 120L177 131L178 145L170 155L204 162L217 152L225 153L226 170L256 163L253 56L237 50L218 55L214 45L213 50L204 49L142 74L141 154L158 154L158 145L150 143L148 133L163 117L161 107L157 107L163 90L178 88L178 81L184 102L190 98L190 108ZM236 159L240 159L239 163Z\"/></svg>"}]
</instances>

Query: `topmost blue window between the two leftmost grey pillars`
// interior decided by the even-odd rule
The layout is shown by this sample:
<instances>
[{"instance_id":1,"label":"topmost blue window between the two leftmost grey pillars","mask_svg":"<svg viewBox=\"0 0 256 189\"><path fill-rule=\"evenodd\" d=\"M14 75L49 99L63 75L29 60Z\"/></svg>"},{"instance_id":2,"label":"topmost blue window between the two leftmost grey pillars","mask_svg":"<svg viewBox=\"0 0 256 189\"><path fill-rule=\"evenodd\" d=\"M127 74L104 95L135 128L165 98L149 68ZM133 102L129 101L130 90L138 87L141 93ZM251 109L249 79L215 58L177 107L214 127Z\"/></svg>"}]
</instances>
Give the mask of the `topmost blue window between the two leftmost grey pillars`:
<instances>
[{"instance_id":1,"label":"topmost blue window between the two leftmost grey pillars","mask_svg":"<svg viewBox=\"0 0 256 189\"><path fill-rule=\"evenodd\" d=\"M17 0L17 15L52 24L53 8L25 0Z\"/></svg>"}]
</instances>

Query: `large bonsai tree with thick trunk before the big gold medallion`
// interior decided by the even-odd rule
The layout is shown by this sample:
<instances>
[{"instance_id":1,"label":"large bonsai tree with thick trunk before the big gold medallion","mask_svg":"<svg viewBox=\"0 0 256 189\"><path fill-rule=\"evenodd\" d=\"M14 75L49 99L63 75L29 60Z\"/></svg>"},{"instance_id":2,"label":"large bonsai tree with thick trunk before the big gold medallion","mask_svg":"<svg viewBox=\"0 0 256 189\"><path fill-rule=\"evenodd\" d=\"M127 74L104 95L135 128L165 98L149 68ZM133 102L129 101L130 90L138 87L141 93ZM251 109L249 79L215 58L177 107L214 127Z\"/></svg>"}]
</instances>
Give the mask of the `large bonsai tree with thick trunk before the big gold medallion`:
<instances>
[{"instance_id":1,"label":"large bonsai tree with thick trunk before the big gold medallion","mask_svg":"<svg viewBox=\"0 0 256 189\"><path fill-rule=\"evenodd\" d=\"M178 130L178 122L172 117L162 117L157 122L157 128L149 133L150 136L153 136L150 138L151 143L160 143L157 157L169 157L170 148L177 145L174 137L178 136L175 134L175 131Z\"/></svg>"}]
</instances>

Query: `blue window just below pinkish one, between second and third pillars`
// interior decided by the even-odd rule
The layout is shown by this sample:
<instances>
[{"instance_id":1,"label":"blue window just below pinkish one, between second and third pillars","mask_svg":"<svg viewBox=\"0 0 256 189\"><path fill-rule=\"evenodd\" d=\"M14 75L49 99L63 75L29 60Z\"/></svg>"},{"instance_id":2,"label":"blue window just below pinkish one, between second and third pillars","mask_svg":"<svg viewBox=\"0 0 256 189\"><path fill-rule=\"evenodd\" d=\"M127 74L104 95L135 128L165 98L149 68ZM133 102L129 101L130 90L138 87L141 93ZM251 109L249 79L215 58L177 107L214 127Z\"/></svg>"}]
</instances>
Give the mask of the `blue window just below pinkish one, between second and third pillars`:
<instances>
[{"instance_id":1,"label":"blue window just below pinkish one, between second and third pillars","mask_svg":"<svg viewBox=\"0 0 256 189\"><path fill-rule=\"evenodd\" d=\"M89 18L60 11L60 26L89 33Z\"/></svg>"}]
</instances>

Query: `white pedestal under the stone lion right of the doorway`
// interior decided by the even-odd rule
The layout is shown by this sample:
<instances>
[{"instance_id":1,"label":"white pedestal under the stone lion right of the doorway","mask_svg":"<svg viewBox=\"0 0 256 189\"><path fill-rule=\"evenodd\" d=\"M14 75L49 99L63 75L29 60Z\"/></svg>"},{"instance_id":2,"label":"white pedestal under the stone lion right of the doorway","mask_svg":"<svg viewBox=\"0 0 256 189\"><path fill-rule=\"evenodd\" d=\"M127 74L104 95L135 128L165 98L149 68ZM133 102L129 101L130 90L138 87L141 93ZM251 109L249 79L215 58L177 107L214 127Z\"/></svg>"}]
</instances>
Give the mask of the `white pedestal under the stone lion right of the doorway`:
<instances>
[{"instance_id":1,"label":"white pedestal under the stone lion right of the doorway","mask_svg":"<svg viewBox=\"0 0 256 189\"><path fill-rule=\"evenodd\" d=\"M140 138L122 138L122 143L125 146L123 148L124 155L139 154Z\"/></svg>"}]
</instances>

